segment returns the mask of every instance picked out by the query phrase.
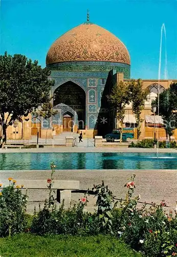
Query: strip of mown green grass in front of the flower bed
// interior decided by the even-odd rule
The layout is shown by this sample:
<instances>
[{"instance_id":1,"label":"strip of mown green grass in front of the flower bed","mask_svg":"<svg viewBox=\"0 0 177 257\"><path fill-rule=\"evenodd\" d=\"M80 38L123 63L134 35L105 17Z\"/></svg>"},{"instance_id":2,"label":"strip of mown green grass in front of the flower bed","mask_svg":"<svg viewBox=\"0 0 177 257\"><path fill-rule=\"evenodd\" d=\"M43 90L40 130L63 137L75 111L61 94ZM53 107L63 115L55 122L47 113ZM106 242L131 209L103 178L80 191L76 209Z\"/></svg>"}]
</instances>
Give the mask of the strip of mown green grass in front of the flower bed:
<instances>
[{"instance_id":1,"label":"strip of mown green grass in front of the flower bed","mask_svg":"<svg viewBox=\"0 0 177 257\"><path fill-rule=\"evenodd\" d=\"M140 253L110 236L36 236L20 234L0 238L0 255L36 257L141 257Z\"/></svg>"}]
</instances>

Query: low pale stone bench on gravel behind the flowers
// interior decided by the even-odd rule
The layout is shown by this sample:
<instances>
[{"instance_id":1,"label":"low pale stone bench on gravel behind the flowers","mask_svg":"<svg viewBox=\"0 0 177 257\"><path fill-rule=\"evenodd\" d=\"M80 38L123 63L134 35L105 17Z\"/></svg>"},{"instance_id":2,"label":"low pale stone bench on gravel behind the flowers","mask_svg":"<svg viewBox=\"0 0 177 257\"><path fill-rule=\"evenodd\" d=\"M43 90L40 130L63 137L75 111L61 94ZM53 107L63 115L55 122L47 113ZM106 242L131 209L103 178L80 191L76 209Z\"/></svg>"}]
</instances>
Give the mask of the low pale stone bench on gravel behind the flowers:
<instances>
[{"instance_id":1,"label":"low pale stone bench on gravel behind the flowers","mask_svg":"<svg viewBox=\"0 0 177 257\"><path fill-rule=\"evenodd\" d=\"M50 174L49 174L50 175ZM2 188L9 186L9 180L0 180L0 183L2 183ZM27 196L28 202L31 203L31 208L28 208L27 210L31 209L31 211L34 210L35 203L38 204L40 202L44 202L46 198L49 196L49 189L47 186L49 183L46 180L18 180L16 179L16 183L14 187L19 186L21 188L21 185L23 185L23 188L21 190L25 191L27 190ZM70 206L71 203L71 191L72 190L79 190L79 181L75 180L53 180L52 182L52 191L54 198L56 199L56 203L60 204L62 203L64 199L64 204L66 207Z\"/></svg>"}]
</instances>

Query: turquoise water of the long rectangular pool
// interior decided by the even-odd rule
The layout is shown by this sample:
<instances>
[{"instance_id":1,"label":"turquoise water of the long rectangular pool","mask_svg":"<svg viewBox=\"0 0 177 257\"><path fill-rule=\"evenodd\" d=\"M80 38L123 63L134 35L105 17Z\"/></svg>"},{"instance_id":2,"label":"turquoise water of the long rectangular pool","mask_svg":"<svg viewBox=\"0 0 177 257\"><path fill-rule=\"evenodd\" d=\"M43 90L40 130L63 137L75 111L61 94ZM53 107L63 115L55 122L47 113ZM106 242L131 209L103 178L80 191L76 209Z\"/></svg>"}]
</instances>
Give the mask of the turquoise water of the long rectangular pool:
<instances>
[{"instance_id":1,"label":"turquoise water of the long rectangular pool","mask_svg":"<svg viewBox=\"0 0 177 257\"><path fill-rule=\"evenodd\" d=\"M0 170L176 169L177 153L1 153Z\"/></svg>"}]
</instances>

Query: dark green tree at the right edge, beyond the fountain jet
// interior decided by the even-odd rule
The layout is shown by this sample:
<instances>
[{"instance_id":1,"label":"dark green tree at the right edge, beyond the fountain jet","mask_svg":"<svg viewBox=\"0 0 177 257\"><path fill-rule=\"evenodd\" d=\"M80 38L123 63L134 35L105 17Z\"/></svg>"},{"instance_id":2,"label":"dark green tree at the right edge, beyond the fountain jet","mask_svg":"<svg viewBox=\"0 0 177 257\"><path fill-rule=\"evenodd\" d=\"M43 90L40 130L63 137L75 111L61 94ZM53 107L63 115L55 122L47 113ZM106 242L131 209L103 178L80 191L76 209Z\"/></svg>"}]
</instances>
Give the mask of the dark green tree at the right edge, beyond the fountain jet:
<instances>
[{"instance_id":1,"label":"dark green tree at the right edge, beyond the fountain jet","mask_svg":"<svg viewBox=\"0 0 177 257\"><path fill-rule=\"evenodd\" d=\"M152 101L152 105L157 105L158 113L158 97ZM177 126L177 83L172 83L168 89L159 94L159 115L164 120L166 137L170 139L173 130Z\"/></svg>"}]
</instances>

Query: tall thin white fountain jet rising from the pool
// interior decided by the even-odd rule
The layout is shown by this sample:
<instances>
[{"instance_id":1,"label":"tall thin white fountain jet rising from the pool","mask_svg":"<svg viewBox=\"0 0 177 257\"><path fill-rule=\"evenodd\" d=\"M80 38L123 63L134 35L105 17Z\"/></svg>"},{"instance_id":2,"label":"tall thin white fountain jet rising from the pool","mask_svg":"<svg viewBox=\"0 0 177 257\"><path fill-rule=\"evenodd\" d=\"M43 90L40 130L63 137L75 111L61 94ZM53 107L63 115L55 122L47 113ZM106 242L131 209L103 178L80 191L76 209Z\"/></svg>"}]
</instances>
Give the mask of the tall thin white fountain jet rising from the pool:
<instances>
[{"instance_id":1,"label":"tall thin white fountain jet rising from the pool","mask_svg":"<svg viewBox=\"0 0 177 257\"><path fill-rule=\"evenodd\" d=\"M161 27L161 41L160 41L160 54L159 54L159 73L158 73L158 116L159 116L159 94L160 94L160 79L161 79L161 61L162 61L162 36L163 36L163 31L165 35L165 71L164 71L164 79L167 79L167 48L166 48L166 29L165 29L165 24L162 24ZM159 156L159 126L158 126L158 141L157 141L157 157Z\"/></svg>"}]
</instances>

